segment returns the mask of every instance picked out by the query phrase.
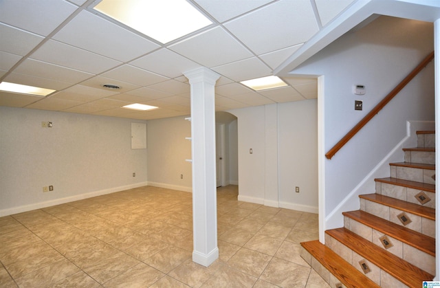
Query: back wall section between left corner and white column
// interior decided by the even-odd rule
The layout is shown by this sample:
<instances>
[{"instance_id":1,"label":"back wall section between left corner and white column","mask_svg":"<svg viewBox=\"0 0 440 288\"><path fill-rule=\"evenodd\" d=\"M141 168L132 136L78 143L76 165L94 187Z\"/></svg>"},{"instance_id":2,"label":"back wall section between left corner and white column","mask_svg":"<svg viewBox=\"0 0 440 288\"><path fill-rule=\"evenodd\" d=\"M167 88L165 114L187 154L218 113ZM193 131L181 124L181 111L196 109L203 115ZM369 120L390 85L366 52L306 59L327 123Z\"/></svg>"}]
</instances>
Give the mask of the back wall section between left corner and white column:
<instances>
[{"instance_id":1,"label":"back wall section between left corner and white column","mask_svg":"<svg viewBox=\"0 0 440 288\"><path fill-rule=\"evenodd\" d=\"M191 123L185 117L147 121L148 185L192 190ZM181 179L180 175L184 175Z\"/></svg>"}]
</instances>

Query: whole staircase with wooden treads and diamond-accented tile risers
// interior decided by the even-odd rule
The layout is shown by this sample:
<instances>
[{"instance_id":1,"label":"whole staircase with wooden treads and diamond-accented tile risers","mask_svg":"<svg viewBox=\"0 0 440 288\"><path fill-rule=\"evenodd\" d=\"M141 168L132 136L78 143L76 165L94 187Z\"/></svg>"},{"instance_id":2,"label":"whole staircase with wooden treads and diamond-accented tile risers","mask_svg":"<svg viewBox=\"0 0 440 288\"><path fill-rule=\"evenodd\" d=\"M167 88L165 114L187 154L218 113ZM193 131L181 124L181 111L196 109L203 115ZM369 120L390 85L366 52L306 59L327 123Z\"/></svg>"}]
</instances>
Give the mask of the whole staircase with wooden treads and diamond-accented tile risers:
<instances>
[{"instance_id":1,"label":"whole staircase with wooden treads and diamond-accented tile risers","mask_svg":"<svg viewBox=\"0 0 440 288\"><path fill-rule=\"evenodd\" d=\"M417 148L344 212L325 245L303 242L301 256L331 287L422 287L435 274L435 132L417 131Z\"/></svg>"}]
</instances>

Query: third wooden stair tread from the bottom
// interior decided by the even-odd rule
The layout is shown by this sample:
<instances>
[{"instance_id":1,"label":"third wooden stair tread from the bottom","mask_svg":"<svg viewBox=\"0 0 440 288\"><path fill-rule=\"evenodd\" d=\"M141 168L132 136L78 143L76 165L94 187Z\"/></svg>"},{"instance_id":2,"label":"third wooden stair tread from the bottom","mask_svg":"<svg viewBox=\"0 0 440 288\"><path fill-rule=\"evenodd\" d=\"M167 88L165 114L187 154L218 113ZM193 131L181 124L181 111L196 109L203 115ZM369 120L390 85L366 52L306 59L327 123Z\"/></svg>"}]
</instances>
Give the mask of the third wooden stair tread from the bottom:
<instances>
[{"instance_id":1,"label":"third wooden stair tread from the bottom","mask_svg":"<svg viewBox=\"0 0 440 288\"><path fill-rule=\"evenodd\" d=\"M435 256L435 239L430 236L426 236L419 232L402 227L401 225L391 221L386 221L362 210L343 212L342 214L364 225L367 225L374 230L406 243L407 245L415 247L416 249L431 256Z\"/></svg>"}]
</instances>

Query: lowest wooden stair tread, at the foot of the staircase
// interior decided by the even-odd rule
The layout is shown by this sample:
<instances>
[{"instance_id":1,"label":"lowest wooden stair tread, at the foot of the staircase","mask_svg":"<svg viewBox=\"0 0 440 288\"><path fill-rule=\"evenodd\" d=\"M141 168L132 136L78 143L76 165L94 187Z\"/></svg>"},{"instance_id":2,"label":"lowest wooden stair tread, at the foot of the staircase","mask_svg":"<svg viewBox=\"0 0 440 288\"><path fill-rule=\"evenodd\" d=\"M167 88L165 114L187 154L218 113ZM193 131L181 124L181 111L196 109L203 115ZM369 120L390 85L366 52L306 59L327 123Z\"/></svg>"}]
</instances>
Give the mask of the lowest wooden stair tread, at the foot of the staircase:
<instances>
[{"instance_id":1,"label":"lowest wooden stair tread, at the foot of the staircase","mask_svg":"<svg viewBox=\"0 0 440 288\"><path fill-rule=\"evenodd\" d=\"M301 246L314 256L331 274L336 276L347 287L379 287L372 280L359 272L358 269L344 261L329 247L322 245L318 240L303 242Z\"/></svg>"}]
</instances>

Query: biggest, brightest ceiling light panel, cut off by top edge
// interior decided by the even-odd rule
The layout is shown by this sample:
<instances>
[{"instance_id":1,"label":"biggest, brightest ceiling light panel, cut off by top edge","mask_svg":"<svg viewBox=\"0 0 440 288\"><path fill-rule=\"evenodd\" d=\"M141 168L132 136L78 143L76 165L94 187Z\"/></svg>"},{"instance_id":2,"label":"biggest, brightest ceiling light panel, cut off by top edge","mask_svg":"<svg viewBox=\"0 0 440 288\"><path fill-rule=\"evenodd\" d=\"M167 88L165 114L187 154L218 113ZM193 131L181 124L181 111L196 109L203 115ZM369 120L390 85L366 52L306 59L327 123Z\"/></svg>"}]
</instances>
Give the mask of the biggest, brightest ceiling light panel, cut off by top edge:
<instances>
[{"instance_id":1,"label":"biggest, brightest ceiling light panel, cut off by top edge","mask_svg":"<svg viewBox=\"0 0 440 288\"><path fill-rule=\"evenodd\" d=\"M94 10L161 43L212 24L186 0L102 0Z\"/></svg>"}]
</instances>

